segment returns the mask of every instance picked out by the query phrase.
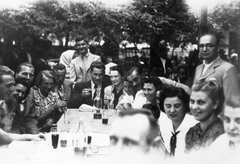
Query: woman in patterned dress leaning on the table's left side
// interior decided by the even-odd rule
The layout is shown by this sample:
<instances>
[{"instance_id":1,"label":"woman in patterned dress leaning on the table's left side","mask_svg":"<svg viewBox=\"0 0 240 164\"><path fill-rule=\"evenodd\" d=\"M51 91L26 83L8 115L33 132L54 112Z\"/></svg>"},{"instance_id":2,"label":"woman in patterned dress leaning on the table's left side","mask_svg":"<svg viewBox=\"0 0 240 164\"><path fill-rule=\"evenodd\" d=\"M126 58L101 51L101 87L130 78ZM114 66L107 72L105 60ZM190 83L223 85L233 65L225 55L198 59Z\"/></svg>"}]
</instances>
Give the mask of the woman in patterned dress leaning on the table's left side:
<instances>
[{"instance_id":1,"label":"woman in patterned dress leaning on the table's left side","mask_svg":"<svg viewBox=\"0 0 240 164\"><path fill-rule=\"evenodd\" d=\"M26 112L35 108L38 119L38 128L42 132L48 132L53 123L56 123L62 115L62 107L67 104L61 101L59 95L53 92L53 73L49 70L39 72L35 86L31 88L27 98Z\"/></svg>"}]
</instances>

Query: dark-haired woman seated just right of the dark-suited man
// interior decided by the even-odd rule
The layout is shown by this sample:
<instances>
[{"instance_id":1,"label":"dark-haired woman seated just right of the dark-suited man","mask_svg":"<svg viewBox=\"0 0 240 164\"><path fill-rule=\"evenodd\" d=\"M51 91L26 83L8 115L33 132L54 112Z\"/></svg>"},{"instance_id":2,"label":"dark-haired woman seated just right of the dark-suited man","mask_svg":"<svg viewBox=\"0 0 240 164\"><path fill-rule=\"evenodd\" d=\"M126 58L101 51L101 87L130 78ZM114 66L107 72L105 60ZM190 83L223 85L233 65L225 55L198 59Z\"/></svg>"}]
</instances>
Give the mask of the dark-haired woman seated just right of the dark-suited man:
<instances>
[{"instance_id":1,"label":"dark-haired woman seated just right of the dark-suited man","mask_svg":"<svg viewBox=\"0 0 240 164\"><path fill-rule=\"evenodd\" d=\"M104 89L104 99L111 100L110 106L115 109L117 104L123 99L123 79L125 71L119 66L110 67L110 80L112 85Z\"/></svg>"}]
</instances>

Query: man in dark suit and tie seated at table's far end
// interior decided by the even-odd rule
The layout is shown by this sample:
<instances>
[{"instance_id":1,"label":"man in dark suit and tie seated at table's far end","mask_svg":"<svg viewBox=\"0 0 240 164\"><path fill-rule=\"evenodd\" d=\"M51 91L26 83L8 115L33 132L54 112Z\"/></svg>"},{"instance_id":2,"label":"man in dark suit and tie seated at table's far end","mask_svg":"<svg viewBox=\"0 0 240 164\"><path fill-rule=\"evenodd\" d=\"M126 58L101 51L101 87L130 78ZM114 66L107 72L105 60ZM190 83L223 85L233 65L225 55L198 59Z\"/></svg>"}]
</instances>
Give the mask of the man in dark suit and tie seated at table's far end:
<instances>
[{"instance_id":1,"label":"man in dark suit and tie seated at table's far end","mask_svg":"<svg viewBox=\"0 0 240 164\"><path fill-rule=\"evenodd\" d=\"M68 107L78 108L82 104L93 105L96 91L100 91L100 97L104 101L104 88L109 84L103 80L105 75L105 65L100 61L95 61L90 66L91 80L78 82L75 84Z\"/></svg>"}]
</instances>

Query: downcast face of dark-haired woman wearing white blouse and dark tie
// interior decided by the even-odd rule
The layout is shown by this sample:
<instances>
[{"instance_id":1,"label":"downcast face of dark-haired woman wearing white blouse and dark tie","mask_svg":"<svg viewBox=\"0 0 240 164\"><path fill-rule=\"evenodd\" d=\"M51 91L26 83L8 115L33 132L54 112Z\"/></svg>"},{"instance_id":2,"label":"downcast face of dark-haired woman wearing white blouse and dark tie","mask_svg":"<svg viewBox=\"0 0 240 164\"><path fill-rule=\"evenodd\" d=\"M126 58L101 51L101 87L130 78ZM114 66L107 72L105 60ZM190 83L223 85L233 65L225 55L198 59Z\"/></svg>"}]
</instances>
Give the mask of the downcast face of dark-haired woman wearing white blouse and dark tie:
<instances>
[{"instance_id":1,"label":"downcast face of dark-haired woman wearing white blouse and dark tie","mask_svg":"<svg viewBox=\"0 0 240 164\"><path fill-rule=\"evenodd\" d=\"M183 120L185 116L183 102L178 97L167 97L164 100L164 111L173 122Z\"/></svg>"}]
</instances>

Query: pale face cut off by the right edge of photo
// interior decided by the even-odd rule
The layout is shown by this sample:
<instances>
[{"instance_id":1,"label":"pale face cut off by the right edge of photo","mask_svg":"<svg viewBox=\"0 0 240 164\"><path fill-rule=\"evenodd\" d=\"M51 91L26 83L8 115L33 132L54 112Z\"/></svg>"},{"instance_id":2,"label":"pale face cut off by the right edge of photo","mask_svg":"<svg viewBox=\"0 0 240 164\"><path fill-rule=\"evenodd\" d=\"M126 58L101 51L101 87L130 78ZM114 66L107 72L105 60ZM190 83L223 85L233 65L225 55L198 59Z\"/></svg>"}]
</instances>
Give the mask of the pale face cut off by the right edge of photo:
<instances>
[{"instance_id":1,"label":"pale face cut off by the right edge of photo","mask_svg":"<svg viewBox=\"0 0 240 164\"><path fill-rule=\"evenodd\" d=\"M240 108L225 106L223 125L230 141L240 143Z\"/></svg>"}]
</instances>

